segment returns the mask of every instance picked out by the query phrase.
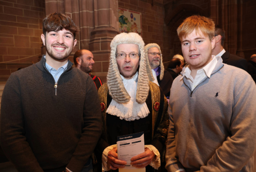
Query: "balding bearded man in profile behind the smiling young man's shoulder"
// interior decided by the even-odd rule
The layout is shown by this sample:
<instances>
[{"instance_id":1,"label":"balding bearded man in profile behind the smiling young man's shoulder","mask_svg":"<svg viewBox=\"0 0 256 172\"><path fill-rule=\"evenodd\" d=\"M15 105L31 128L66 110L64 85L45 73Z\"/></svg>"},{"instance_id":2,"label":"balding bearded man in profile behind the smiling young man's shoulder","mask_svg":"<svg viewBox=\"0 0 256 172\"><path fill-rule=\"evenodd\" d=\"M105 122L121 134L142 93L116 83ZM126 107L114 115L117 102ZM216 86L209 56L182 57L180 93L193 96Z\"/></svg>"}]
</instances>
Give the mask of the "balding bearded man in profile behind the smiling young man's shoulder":
<instances>
[{"instance_id":1,"label":"balding bearded man in profile behind the smiling young man's shoulder","mask_svg":"<svg viewBox=\"0 0 256 172\"><path fill-rule=\"evenodd\" d=\"M88 73L91 76L91 79L94 81L97 90L102 86L102 81L99 77L91 75L92 66L94 64L93 54L89 50L78 50L74 54L74 63L77 69Z\"/></svg>"}]
</instances>

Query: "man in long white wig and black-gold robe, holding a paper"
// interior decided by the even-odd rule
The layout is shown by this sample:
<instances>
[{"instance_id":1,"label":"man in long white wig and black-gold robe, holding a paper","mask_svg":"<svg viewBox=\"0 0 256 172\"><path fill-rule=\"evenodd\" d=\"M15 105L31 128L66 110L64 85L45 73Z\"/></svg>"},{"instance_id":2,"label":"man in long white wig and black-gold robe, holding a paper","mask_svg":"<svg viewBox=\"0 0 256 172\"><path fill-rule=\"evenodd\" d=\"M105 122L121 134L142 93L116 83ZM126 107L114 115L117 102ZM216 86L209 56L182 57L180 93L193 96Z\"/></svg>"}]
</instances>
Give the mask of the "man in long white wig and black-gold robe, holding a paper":
<instances>
[{"instance_id":1,"label":"man in long white wig and black-gold robe, holding a paper","mask_svg":"<svg viewBox=\"0 0 256 172\"><path fill-rule=\"evenodd\" d=\"M126 162L117 159L117 136L144 131L145 151L131 158L131 164L154 172L164 158L167 99L148 79L144 41L139 34L118 34L110 47L107 84L98 91L103 119L102 138L95 151L98 164L102 160L102 171L124 168Z\"/></svg>"}]
</instances>

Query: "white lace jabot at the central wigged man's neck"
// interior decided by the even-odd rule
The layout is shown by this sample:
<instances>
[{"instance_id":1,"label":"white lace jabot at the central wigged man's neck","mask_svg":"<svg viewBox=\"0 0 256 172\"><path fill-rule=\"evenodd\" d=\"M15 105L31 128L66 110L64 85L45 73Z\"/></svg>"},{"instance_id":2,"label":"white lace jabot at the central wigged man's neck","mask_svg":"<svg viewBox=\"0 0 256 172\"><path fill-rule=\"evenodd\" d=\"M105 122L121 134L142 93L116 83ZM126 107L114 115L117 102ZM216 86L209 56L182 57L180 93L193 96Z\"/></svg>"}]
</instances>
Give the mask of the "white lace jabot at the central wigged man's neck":
<instances>
[{"instance_id":1,"label":"white lace jabot at the central wigged man's neck","mask_svg":"<svg viewBox=\"0 0 256 172\"><path fill-rule=\"evenodd\" d=\"M121 120L124 119L128 121L147 117L149 114L147 104L145 102L142 104L136 102L138 72L136 72L132 79L125 79L122 75L121 78L123 79L123 85L131 96L131 99L125 104L117 103L112 99L106 113L120 117Z\"/></svg>"}]
</instances>

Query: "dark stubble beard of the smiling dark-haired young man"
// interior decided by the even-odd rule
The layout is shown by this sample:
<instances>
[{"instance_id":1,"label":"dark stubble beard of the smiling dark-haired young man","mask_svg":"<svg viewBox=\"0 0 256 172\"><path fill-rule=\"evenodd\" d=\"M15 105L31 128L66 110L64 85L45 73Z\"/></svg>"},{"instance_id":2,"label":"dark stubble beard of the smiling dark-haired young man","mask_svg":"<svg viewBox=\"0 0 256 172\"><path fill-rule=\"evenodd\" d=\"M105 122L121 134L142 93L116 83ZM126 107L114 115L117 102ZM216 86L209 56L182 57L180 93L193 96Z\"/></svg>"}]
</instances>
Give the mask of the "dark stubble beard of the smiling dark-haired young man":
<instances>
[{"instance_id":1,"label":"dark stubble beard of the smiling dark-haired young man","mask_svg":"<svg viewBox=\"0 0 256 172\"><path fill-rule=\"evenodd\" d=\"M45 41L46 42L46 41ZM65 54L61 54L61 53L56 53L56 54L54 54L53 53L53 50L52 50L52 47L53 46L63 46L63 47L65 47L65 48L67 48L67 52L65 53ZM48 44L46 44L46 52L47 52L47 54L51 57L51 58L53 58L53 59L55 59L55 60L64 60L64 59L66 59L66 58L68 58L68 56L71 54L71 52L72 52L72 50L73 50L73 48L71 49L71 48L68 48L67 47L67 45L60 45L60 44L53 44L52 46L51 45L48 45Z\"/></svg>"}]
</instances>

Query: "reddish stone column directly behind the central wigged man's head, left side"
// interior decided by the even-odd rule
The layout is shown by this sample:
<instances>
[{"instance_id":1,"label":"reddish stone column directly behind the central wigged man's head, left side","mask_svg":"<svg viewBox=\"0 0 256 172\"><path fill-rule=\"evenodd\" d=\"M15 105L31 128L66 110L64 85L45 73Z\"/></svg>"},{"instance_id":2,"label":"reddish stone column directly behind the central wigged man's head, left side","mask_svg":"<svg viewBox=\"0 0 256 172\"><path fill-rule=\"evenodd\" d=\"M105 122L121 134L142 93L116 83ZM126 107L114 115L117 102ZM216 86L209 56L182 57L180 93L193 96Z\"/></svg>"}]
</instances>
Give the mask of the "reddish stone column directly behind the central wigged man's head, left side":
<instances>
[{"instance_id":1,"label":"reddish stone column directly behind the central wigged man's head, left side","mask_svg":"<svg viewBox=\"0 0 256 172\"><path fill-rule=\"evenodd\" d=\"M94 0L94 24L89 42L89 50L95 58L92 72L106 82L110 43L119 34L118 0Z\"/></svg>"}]
</instances>

